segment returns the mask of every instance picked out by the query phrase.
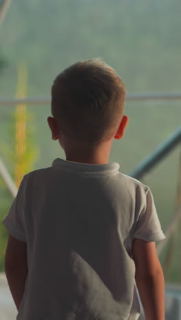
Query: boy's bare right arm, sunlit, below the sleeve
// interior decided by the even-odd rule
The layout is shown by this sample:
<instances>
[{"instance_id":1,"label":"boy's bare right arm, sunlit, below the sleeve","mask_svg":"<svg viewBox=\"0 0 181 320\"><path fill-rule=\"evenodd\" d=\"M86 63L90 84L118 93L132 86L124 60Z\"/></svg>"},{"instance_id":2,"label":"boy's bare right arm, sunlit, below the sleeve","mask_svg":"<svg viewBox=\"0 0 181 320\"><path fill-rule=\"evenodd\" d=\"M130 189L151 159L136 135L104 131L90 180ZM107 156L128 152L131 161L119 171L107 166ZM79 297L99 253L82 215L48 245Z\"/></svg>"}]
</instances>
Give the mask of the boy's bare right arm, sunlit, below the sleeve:
<instances>
[{"instance_id":1,"label":"boy's bare right arm, sunlit, below the sleeve","mask_svg":"<svg viewBox=\"0 0 181 320\"><path fill-rule=\"evenodd\" d=\"M146 320L165 320L165 281L155 242L134 239L135 280Z\"/></svg>"}]
</instances>

